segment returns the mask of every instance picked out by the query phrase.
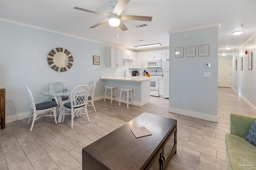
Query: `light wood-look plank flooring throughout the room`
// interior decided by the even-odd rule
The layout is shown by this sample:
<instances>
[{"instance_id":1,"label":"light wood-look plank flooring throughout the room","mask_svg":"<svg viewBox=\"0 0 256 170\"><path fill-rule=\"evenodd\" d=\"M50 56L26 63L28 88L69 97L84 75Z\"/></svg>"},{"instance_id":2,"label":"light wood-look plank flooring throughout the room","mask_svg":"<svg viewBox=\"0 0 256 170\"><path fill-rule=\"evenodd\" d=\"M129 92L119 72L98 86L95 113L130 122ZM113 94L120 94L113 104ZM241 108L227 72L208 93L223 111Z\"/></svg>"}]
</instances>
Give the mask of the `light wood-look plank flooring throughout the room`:
<instances>
[{"instance_id":1,"label":"light wood-look plank flooring throughout the room","mask_svg":"<svg viewBox=\"0 0 256 170\"><path fill-rule=\"evenodd\" d=\"M143 107L109 100L96 101L95 107L97 112L88 109L90 123L85 115L74 118L74 129L68 116L58 124L42 117L32 132L28 119L7 123L0 129L0 170L82 170L82 148L143 112L178 121L177 154L168 170L228 170L224 137L230 113L256 116L231 88L218 88L218 123L168 113L168 100L152 96Z\"/></svg>"}]
</instances>

